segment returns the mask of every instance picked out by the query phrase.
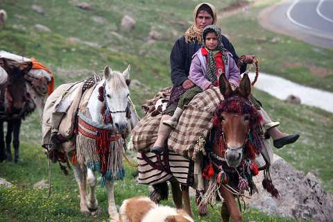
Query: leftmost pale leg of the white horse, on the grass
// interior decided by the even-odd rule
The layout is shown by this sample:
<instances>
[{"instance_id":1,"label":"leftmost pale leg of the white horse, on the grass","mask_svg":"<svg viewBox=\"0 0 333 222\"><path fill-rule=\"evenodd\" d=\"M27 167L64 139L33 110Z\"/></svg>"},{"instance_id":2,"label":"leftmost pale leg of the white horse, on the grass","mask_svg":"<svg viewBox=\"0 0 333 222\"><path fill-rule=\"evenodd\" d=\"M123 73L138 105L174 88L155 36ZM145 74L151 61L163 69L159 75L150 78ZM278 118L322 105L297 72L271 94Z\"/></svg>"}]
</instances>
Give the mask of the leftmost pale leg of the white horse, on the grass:
<instances>
[{"instance_id":1,"label":"leftmost pale leg of the white horse, on the grass","mask_svg":"<svg viewBox=\"0 0 333 222\"><path fill-rule=\"evenodd\" d=\"M78 182L78 190L80 192L80 211L89 212L86 198L87 171L83 170L78 163L73 165L73 169L76 182Z\"/></svg>"}]
</instances>

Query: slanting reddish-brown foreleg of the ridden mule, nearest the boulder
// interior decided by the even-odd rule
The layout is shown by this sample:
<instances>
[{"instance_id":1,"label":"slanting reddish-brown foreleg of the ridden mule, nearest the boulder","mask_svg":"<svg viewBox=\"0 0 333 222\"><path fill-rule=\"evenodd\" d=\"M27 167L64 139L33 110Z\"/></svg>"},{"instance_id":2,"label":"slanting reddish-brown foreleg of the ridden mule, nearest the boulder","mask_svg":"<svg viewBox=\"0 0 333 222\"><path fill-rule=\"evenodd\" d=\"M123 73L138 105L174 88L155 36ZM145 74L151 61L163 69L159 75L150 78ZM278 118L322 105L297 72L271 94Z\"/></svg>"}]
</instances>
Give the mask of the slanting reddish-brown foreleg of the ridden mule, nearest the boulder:
<instances>
[{"instance_id":1,"label":"slanting reddish-brown foreleg of the ridden mule, nearest the boulder","mask_svg":"<svg viewBox=\"0 0 333 222\"><path fill-rule=\"evenodd\" d=\"M221 195L223 199L225 200L225 204L228 207L230 217L233 222L240 222L243 221L241 218L241 211L238 208L238 205L236 203L236 200L234 200L234 195L228 191L225 187L220 188Z\"/></svg>"}]
</instances>

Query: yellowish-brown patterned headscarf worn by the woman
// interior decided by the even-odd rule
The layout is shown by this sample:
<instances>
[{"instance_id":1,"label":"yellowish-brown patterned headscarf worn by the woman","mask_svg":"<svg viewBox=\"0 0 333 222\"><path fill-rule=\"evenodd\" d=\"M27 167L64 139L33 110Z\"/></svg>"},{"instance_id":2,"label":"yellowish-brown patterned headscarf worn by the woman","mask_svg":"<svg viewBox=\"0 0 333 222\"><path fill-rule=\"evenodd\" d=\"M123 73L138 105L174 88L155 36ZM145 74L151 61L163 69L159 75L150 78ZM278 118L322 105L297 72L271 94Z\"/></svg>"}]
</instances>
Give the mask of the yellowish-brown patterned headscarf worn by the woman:
<instances>
[{"instance_id":1,"label":"yellowish-brown patterned headscarf worn by the woman","mask_svg":"<svg viewBox=\"0 0 333 222\"><path fill-rule=\"evenodd\" d=\"M203 31L200 30L200 28L196 27L196 15L198 15L198 10L200 6L206 5L208 6L212 12L213 12L213 22L212 24L216 24L217 21L217 12L215 7L210 4L210 3L200 3L196 8L194 8L193 11L193 24L187 29L185 32L185 41L187 43L194 43L194 42L199 42L200 44L202 43L202 33Z\"/></svg>"}]
</instances>

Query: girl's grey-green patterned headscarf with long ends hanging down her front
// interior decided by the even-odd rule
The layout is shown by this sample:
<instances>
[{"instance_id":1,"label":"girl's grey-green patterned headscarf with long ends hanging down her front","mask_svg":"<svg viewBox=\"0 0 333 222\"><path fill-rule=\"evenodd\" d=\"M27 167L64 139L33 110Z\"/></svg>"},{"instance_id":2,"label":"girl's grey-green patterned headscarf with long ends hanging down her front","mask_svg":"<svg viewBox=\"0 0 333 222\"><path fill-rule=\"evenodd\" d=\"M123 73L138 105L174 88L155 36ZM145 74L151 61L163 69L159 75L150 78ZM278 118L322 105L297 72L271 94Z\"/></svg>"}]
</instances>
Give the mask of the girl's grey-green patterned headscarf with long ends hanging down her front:
<instances>
[{"instance_id":1,"label":"girl's grey-green patterned headscarf with long ends hanging down her front","mask_svg":"<svg viewBox=\"0 0 333 222\"><path fill-rule=\"evenodd\" d=\"M209 50L206 47L205 37L206 37L207 33L212 33L212 32L214 32L216 34L218 45L216 46L216 48L214 50ZM210 80L210 82L213 85L216 85L217 76L216 76L215 54L218 53L219 51L221 51L224 67L228 66L228 55L227 55L227 51L224 48L224 45L222 43L221 28L219 28L216 25L206 26L205 28L203 28L203 37L202 38L203 38L202 45L208 51L208 62L207 62L207 66L206 66L207 67L207 79ZM219 75L221 75L221 74L219 74Z\"/></svg>"}]
</instances>

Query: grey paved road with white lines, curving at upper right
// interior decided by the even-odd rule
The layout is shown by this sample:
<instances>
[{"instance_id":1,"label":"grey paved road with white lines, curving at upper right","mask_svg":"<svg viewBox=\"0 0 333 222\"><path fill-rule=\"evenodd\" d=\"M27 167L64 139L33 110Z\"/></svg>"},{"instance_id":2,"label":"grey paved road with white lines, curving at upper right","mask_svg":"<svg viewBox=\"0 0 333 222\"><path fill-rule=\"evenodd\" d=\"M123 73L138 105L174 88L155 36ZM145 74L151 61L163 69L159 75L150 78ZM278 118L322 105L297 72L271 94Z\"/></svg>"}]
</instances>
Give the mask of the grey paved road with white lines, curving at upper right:
<instances>
[{"instance_id":1,"label":"grey paved road with white lines, curving at upper right","mask_svg":"<svg viewBox=\"0 0 333 222\"><path fill-rule=\"evenodd\" d=\"M333 0L289 0L263 10L259 22L270 31L333 49Z\"/></svg>"}]
</instances>

